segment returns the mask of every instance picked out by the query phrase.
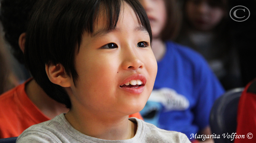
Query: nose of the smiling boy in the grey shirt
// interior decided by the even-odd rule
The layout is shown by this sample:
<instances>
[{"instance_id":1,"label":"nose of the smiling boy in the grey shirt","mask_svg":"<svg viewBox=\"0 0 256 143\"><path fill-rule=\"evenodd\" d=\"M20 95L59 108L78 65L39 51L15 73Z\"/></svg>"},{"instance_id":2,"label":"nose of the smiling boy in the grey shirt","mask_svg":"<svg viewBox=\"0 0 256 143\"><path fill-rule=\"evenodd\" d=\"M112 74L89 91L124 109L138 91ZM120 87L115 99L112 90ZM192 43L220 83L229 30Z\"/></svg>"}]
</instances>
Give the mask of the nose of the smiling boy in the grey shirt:
<instances>
[{"instance_id":1,"label":"nose of the smiling boy in the grey shirt","mask_svg":"<svg viewBox=\"0 0 256 143\"><path fill-rule=\"evenodd\" d=\"M122 69L124 70L137 70L144 67L144 63L141 58L143 56L140 54L137 47L126 47L123 48L121 53L122 58Z\"/></svg>"}]
</instances>

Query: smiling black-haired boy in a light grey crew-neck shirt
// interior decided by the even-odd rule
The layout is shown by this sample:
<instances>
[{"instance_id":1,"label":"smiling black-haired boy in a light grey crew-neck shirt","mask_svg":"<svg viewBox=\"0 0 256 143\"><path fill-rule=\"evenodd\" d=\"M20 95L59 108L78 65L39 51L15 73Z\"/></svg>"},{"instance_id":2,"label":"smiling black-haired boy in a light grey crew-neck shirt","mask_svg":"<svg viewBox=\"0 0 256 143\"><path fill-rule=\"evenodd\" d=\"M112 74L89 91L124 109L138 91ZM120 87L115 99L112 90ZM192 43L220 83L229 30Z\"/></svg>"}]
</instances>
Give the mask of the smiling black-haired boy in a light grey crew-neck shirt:
<instances>
[{"instance_id":1,"label":"smiling black-haired boy in a light grey crew-neck shirt","mask_svg":"<svg viewBox=\"0 0 256 143\"><path fill-rule=\"evenodd\" d=\"M128 120L145 106L157 74L151 28L136 0L44 0L30 20L27 65L70 111L26 129L18 143L189 143L181 133Z\"/></svg>"}]
</instances>

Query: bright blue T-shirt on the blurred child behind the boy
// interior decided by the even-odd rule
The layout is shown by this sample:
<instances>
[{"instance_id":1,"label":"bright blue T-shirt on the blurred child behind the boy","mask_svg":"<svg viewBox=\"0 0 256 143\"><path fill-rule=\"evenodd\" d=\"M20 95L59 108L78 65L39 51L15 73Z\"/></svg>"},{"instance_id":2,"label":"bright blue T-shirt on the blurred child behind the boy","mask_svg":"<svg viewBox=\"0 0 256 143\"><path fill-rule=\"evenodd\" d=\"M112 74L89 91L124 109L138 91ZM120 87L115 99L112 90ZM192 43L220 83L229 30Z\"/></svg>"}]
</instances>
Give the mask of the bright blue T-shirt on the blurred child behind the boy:
<instances>
[{"instance_id":1,"label":"bright blue T-shirt on the blurred child behind the boy","mask_svg":"<svg viewBox=\"0 0 256 143\"><path fill-rule=\"evenodd\" d=\"M212 105L224 89L206 60L194 50L169 41L157 65L153 92L140 112L144 120L189 138L209 126Z\"/></svg>"}]
</instances>

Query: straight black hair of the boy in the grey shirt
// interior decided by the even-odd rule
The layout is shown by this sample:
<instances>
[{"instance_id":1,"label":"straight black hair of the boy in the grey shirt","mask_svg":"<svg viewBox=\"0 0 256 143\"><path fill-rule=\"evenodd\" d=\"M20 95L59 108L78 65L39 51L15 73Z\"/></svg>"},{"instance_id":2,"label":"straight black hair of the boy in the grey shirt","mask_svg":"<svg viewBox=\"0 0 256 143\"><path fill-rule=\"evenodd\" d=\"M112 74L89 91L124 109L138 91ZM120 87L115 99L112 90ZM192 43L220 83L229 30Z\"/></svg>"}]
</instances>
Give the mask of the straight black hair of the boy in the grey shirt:
<instances>
[{"instance_id":1,"label":"straight black hair of the boy in the grey shirt","mask_svg":"<svg viewBox=\"0 0 256 143\"><path fill-rule=\"evenodd\" d=\"M61 64L76 85L79 75L74 58L79 52L82 35L84 32L93 34L95 20L102 10L107 16L106 29L116 28L124 2L133 8L151 42L147 14L137 0L39 0L36 3L26 32L25 60L35 81L49 97L71 108L66 90L49 81L45 65Z\"/></svg>"}]
</instances>

